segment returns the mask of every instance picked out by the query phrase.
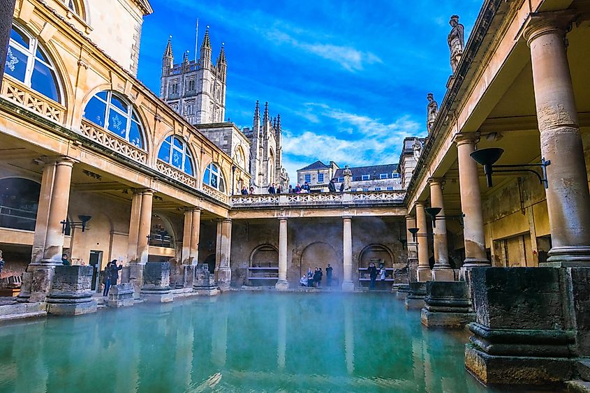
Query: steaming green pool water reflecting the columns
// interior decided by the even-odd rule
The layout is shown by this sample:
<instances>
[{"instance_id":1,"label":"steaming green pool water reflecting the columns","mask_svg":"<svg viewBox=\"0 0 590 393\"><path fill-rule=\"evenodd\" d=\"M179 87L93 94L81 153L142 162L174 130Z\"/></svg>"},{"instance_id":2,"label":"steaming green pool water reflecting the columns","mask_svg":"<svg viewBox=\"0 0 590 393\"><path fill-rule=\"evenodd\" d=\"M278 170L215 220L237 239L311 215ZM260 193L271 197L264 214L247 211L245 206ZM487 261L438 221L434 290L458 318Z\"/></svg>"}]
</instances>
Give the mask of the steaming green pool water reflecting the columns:
<instances>
[{"instance_id":1,"label":"steaming green pool water reflecting the columns","mask_svg":"<svg viewBox=\"0 0 590 393\"><path fill-rule=\"evenodd\" d=\"M487 392L386 293L230 292L0 327L2 392Z\"/></svg>"}]
</instances>

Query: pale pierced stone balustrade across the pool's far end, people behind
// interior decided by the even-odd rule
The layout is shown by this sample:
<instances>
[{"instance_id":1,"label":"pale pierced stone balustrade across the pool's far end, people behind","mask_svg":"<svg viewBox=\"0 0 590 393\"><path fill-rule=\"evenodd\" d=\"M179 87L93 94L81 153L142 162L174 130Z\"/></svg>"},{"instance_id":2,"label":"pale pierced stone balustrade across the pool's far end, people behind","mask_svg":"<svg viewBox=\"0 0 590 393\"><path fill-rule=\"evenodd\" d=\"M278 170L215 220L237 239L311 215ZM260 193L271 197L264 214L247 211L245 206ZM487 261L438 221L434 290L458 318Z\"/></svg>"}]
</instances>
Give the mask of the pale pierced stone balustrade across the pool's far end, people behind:
<instances>
[{"instance_id":1,"label":"pale pierced stone balustrade across the pool's far end, people behind","mask_svg":"<svg viewBox=\"0 0 590 393\"><path fill-rule=\"evenodd\" d=\"M268 209L274 207L401 207L405 190L353 191L346 193L299 193L234 195L233 209Z\"/></svg>"}]
</instances>

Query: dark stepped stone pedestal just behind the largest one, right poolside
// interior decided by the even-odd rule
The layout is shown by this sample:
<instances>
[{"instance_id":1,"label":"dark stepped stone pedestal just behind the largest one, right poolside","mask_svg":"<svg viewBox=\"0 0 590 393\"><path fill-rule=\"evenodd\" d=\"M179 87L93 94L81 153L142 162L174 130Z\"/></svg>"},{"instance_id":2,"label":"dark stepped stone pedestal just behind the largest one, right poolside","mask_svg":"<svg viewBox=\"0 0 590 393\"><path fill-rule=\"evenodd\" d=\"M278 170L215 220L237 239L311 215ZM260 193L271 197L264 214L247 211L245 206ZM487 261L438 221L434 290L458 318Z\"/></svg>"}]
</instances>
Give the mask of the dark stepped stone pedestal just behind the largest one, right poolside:
<instances>
[{"instance_id":1,"label":"dark stepped stone pedestal just behind the largest one, right poolside","mask_svg":"<svg viewBox=\"0 0 590 393\"><path fill-rule=\"evenodd\" d=\"M465 281L428 281L422 325L464 329L475 321L469 286Z\"/></svg>"}]
</instances>

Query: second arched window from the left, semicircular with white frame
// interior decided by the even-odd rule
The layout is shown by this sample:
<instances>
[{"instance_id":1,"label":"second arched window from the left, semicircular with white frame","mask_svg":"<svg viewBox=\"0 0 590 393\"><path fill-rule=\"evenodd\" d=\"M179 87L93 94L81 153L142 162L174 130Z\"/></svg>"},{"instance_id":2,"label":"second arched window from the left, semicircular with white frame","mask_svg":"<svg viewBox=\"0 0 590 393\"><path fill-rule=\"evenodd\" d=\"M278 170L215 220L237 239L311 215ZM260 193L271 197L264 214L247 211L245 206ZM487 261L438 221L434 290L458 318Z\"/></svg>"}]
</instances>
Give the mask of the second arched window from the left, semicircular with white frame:
<instances>
[{"instance_id":1,"label":"second arched window from the left, semicircular with white frame","mask_svg":"<svg viewBox=\"0 0 590 393\"><path fill-rule=\"evenodd\" d=\"M142 126L133 105L112 91L94 94L84 108L83 116L135 146L144 148Z\"/></svg>"}]
</instances>

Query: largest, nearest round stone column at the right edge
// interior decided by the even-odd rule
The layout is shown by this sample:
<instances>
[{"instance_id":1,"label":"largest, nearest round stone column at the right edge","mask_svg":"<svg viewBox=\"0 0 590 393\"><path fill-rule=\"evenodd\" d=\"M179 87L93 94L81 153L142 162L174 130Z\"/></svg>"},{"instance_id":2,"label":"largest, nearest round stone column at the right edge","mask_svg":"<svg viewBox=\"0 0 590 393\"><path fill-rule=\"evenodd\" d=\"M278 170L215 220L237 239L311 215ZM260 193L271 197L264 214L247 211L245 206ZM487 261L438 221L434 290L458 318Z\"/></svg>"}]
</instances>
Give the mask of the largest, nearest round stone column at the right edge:
<instances>
[{"instance_id":1,"label":"largest, nearest round stone column at the right edge","mask_svg":"<svg viewBox=\"0 0 590 393\"><path fill-rule=\"evenodd\" d=\"M547 167L552 249L545 266L590 265L590 193L566 53L568 11L536 13L526 28L541 156Z\"/></svg>"}]
</instances>

